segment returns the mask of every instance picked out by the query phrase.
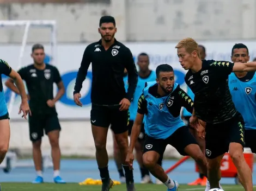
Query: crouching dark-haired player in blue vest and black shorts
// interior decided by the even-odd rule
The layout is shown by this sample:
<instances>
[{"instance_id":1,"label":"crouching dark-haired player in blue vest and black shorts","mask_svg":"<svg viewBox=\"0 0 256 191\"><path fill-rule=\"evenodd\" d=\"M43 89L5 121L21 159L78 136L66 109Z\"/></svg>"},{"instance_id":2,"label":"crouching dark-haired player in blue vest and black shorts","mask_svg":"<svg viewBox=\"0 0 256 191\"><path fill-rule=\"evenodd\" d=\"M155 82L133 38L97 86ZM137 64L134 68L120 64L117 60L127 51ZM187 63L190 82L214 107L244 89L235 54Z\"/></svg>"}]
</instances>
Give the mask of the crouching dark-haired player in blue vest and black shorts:
<instances>
[{"instance_id":1,"label":"crouching dark-haired player in blue vest and black shorts","mask_svg":"<svg viewBox=\"0 0 256 191\"><path fill-rule=\"evenodd\" d=\"M196 139L181 120L180 110L184 106L193 111L193 101L179 84L174 83L172 66L164 64L156 68L156 81L147 82L147 87L138 101L138 111L132 126L131 141L126 161L132 168L133 148L145 116L145 143L143 163L151 174L162 181L168 191L176 191L178 182L169 179L157 161L163 157L168 144L178 150L181 155L189 155L198 162L207 173L206 158L200 150Z\"/></svg>"}]
</instances>

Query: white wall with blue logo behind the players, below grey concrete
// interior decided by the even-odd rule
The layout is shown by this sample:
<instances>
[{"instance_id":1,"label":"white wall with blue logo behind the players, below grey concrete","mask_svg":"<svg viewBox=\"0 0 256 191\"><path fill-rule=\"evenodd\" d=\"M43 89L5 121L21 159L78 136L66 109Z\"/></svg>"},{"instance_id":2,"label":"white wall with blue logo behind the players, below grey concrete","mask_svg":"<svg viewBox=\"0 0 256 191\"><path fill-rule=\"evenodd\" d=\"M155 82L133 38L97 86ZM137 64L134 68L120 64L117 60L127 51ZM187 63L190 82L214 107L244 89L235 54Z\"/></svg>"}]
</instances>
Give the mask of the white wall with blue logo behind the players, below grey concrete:
<instances>
[{"instance_id":1,"label":"white wall with blue logo behind the players, below grey concrete","mask_svg":"<svg viewBox=\"0 0 256 191\"><path fill-rule=\"evenodd\" d=\"M235 43L245 43L248 46L251 60L256 57L256 40L235 40L235 41L199 41L206 47L207 59L230 61L231 48ZM176 43L125 43L131 49L133 58L141 52L146 52L150 56L150 68L155 69L162 63L172 65L175 70L175 81L178 82L184 90L186 85L184 82L184 75L186 71L179 65L178 56L174 49ZM83 155L94 157L94 142L92 132L90 129L90 90L91 90L91 67L87 79L83 83L82 98L83 107L78 107L74 104L72 92L74 90L74 83L78 68L80 67L83 51L88 44L59 44L57 47L56 65L62 75L66 93L62 99L57 103L57 111L62 125L62 133L60 136L60 147L64 155ZM51 59L50 46L45 44L47 58ZM11 67L17 68L17 61L19 59L20 46L17 45L1 45L0 52L1 59L6 60ZM72 52L71 52L72 51ZM27 46L25 49L25 57L22 60L22 65L32 63L30 57L31 47ZM16 56L15 56L16 55ZM3 83L7 77L2 76ZM57 87L55 87L57 91ZM5 99L9 103L10 90L4 86ZM20 104L20 98L15 97L13 110L10 111L11 117L11 141L10 148L18 149L23 154L31 153L31 142L29 141L28 123L21 120L21 116L17 114ZM50 145L44 137L42 149L49 151ZM112 135L109 133L107 148L110 155L113 155L112 149ZM166 156L179 157L180 155L172 147L168 147L165 152Z\"/></svg>"}]
</instances>

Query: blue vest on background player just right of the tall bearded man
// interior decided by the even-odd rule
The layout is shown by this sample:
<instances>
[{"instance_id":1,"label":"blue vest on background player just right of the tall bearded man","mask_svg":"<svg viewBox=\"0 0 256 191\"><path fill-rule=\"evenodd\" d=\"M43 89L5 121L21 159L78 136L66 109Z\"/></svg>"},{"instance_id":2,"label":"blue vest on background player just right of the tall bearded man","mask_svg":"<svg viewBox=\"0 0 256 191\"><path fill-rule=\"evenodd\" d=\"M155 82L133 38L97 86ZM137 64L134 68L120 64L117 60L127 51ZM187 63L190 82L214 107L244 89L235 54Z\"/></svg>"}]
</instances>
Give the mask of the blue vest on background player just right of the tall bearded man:
<instances>
[{"instance_id":1,"label":"blue vest on background player just right of the tall bearded man","mask_svg":"<svg viewBox=\"0 0 256 191\"><path fill-rule=\"evenodd\" d=\"M136 87L135 93L133 95L133 100L131 102L131 105L129 107L130 120L135 120L135 118L136 118L137 108L138 108L138 100L142 94L144 87L145 87L145 82L155 81L155 80L156 80L155 71L151 71L150 74L148 75L148 77L146 77L146 78L142 78L142 77L138 76L137 87ZM125 81L125 90L127 91L127 88L129 86L127 76L124 78L124 81Z\"/></svg>"}]
</instances>

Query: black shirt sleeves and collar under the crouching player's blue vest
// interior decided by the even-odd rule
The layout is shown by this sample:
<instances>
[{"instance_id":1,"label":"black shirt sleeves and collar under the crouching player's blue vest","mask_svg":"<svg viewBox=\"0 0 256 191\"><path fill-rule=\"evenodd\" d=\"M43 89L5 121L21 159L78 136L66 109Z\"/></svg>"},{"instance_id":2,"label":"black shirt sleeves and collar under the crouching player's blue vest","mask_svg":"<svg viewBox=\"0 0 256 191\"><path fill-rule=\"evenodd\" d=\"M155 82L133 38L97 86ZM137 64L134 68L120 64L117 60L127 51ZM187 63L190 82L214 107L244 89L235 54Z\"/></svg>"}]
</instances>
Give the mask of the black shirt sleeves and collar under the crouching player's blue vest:
<instances>
[{"instance_id":1,"label":"black shirt sleeves and collar under the crouching player's blue vest","mask_svg":"<svg viewBox=\"0 0 256 191\"><path fill-rule=\"evenodd\" d=\"M154 86L150 87L149 93L156 98L160 98L161 95L157 93L157 86L158 85L155 84ZM148 104L150 105L150 103L147 103L147 100L142 93L138 100L137 112L139 114L147 114ZM181 107L185 107L190 113L193 112L193 100L184 90L180 88L180 85L178 85L178 87L176 87L176 89L170 94L170 98L167 101L167 107L173 117L178 117L180 116Z\"/></svg>"}]
</instances>

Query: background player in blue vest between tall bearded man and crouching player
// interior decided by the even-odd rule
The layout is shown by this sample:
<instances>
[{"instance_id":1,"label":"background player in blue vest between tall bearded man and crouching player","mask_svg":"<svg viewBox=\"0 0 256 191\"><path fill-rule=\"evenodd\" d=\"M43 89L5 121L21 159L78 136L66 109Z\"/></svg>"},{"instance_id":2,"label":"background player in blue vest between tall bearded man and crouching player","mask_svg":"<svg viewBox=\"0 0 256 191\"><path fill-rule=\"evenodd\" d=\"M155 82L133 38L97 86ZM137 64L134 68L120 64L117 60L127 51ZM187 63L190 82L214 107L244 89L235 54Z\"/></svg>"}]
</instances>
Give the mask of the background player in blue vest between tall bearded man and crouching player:
<instances>
[{"instance_id":1,"label":"background player in blue vest between tall bearded man and crouching player","mask_svg":"<svg viewBox=\"0 0 256 191\"><path fill-rule=\"evenodd\" d=\"M129 112L130 112L130 121L129 121L129 125L128 125L129 136L131 135L132 126L133 126L133 123L135 121L135 117L137 114L138 100L139 100L139 97L141 96L141 92L142 92L143 88L145 87L145 82L156 80L156 73L149 69L148 54L146 54L146 53L139 54L137 65L139 67L138 83L137 83L137 87L135 90L135 94L133 95L133 100L129 107ZM127 81L127 73L125 74L124 82L125 82L125 86L126 86L125 89L127 90L129 87L128 81ZM142 128L141 128L141 133L139 133L138 139L135 144L136 159L138 161L138 164L139 164L139 167L141 170L141 178L142 178L141 183L151 183L149 170L144 167L143 161L142 161L143 144L145 141L144 134L145 134L145 130L144 130L144 123L143 123ZM119 148L118 148L118 145L117 145L117 142L115 141L115 139L113 139L113 140L114 140L114 159L115 159L115 163L117 164L120 180L121 180L121 182L123 182L123 180L125 180L125 177L124 177L124 172L123 172L123 168L122 168L120 157L119 157L119 155L120 155Z\"/></svg>"}]
</instances>

